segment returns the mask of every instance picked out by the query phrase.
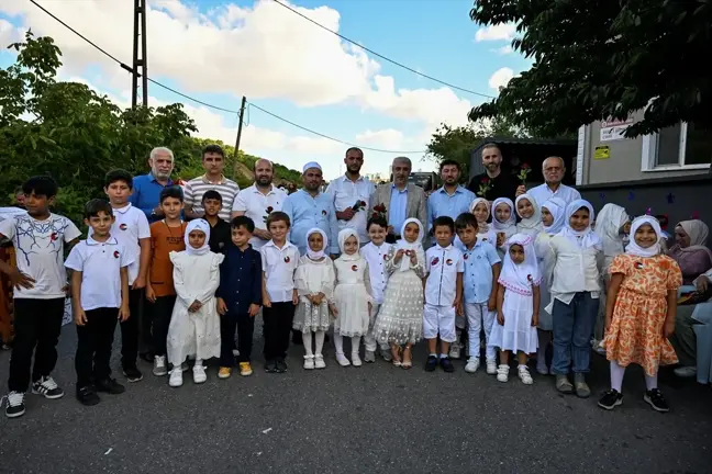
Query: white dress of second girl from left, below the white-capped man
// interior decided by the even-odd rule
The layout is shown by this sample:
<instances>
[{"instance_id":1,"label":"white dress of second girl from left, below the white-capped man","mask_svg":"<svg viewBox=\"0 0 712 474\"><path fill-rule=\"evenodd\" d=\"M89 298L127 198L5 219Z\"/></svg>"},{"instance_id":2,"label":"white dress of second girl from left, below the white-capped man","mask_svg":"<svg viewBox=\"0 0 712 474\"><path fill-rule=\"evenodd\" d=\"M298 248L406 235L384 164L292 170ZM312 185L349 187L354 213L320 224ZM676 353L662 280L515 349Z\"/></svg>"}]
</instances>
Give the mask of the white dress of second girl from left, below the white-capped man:
<instances>
[{"instance_id":1,"label":"white dress of second girl from left, below the white-capped man","mask_svg":"<svg viewBox=\"0 0 712 474\"><path fill-rule=\"evenodd\" d=\"M334 264L329 257L314 261L307 256L299 259L294 274L294 286L299 294L299 306L294 313L292 328L302 332L325 331L331 316L329 302L334 297ZM316 306L310 303L307 295L324 293L325 298Z\"/></svg>"}]
</instances>

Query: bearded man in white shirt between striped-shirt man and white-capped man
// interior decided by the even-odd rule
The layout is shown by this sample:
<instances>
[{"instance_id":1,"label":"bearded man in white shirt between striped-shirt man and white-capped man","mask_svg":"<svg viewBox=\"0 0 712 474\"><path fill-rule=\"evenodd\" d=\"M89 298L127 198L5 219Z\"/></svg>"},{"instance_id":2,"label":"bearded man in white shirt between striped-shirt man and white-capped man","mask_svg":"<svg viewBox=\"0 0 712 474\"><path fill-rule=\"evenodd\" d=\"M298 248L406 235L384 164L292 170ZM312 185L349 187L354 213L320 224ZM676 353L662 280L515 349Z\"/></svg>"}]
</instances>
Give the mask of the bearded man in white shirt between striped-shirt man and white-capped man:
<instances>
[{"instance_id":1,"label":"bearded man in white shirt between striped-shirt man and white-capped man","mask_svg":"<svg viewBox=\"0 0 712 474\"><path fill-rule=\"evenodd\" d=\"M255 250L267 244L271 236L267 230L267 217L281 211L287 193L272 185L272 163L266 159L255 161L255 183L237 193L233 203L233 218L245 215L255 223L255 232L249 240Z\"/></svg>"}]
</instances>

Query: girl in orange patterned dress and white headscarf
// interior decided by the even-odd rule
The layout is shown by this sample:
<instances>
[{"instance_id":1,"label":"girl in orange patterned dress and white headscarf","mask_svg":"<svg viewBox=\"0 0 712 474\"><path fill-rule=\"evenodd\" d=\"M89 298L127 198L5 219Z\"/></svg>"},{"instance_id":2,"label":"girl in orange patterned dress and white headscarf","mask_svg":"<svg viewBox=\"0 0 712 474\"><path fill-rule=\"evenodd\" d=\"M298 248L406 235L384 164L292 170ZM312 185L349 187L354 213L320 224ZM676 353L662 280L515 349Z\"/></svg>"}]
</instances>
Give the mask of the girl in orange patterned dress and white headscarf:
<instances>
[{"instance_id":1,"label":"girl in orange patterned dress and white headscarf","mask_svg":"<svg viewBox=\"0 0 712 474\"><path fill-rule=\"evenodd\" d=\"M613 259L605 304L605 357L611 361L611 390L599 406L613 409L623 403L621 386L625 368L637 363L645 371L647 391L643 399L657 411L668 411L657 386L659 365L677 362L668 336L675 330L680 268L660 253L660 225L641 216L631 226L625 253Z\"/></svg>"}]
</instances>

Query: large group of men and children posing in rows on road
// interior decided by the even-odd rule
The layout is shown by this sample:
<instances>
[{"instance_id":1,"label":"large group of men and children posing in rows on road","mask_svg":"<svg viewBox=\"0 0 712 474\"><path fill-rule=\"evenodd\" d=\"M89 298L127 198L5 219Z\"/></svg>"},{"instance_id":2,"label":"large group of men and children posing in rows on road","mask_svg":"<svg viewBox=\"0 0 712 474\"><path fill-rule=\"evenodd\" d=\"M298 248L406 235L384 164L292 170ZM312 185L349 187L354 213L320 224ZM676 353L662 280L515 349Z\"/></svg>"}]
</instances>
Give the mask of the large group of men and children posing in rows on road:
<instances>
[{"instance_id":1,"label":"large group of men and children posing in rows on road","mask_svg":"<svg viewBox=\"0 0 712 474\"><path fill-rule=\"evenodd\" d=\"M492 174L498 157L496 145L483 148ZM333 327L341 366L380 353L408 370L413 346L425 339L426 371L453 372L465 350L465 371L474 373L483 346L486 371L499 382L508 382L515 358L519 379L532 384L527 362L536 358L537 372L556 375L560 393L579 397L590 396L586 374L599 317L611 361L611 390L599 405L621 404L624 370L637 363L646 373L645 400L668 410L657 372L677 361L667 337L680 267L663 253L652 216L631 222L624 212L609 213L594 232L591 204L560 183L560 158L544 161L543 188L520 185L514 201L476 196L458 184L459 166L449 160L441 163L443 187L429 196L409 183L404 157L393 160L391 183L374 187L360 176L358 148L346 151L346 173L325 192L316 162L304 165L302 189L287 195L274 187L269 161L255 163L255 183L244 190L223 176L224 161L220 147L208 146L205 174L183 189L173 185L167 148L152 151L146 176L110 171L108 201L86 205L81 241L74 223L49 211L57 193L51 178L23 185L26 214L0 222L0 238L18 252L16 268L0 263L15 287L8 417L24 414L29 387L46 398L64 395L51 373L66 292L78 336L76 396L85 405L98 404L98 393L125 390L111 376L116 321L126 380L143 379L142 358L179 387L190 359L194 383L205 382L210 359L219 360L220 379L235 366L251 375L262 312L269 373L287 370L292 331L303 345L303 369L324 369Z\"/></svg>"}]
</instances>

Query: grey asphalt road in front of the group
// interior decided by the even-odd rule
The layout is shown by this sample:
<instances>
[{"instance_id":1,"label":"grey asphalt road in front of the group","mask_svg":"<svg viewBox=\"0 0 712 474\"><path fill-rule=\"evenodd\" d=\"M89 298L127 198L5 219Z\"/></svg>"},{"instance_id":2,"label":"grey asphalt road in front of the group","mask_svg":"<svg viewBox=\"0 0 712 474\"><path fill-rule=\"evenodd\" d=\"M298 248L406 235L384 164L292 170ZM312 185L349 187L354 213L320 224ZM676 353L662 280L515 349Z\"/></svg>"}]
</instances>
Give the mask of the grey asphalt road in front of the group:
<instances>
[{"instance_id":1,"label":"grey asphalt road in front of the group","mask_svg":"<svg viewBox=\"0 0 712 474\"><path fill-rule=\"evenodd\" d=\"M597 398L608 369L598 356L589 399L558 395L552 377L524 386L514 371L508 384L463 363L454 374L426 373L420 345L411 371L382 360L342 369L329 347L326 370L307 372L293 347L286 374L266 374L257 358L251 377L221 381L212 369L205 384L186 377L181 388L141 362L144 381L84 407L74 398L75 340L65 327L54 375L67 395L27 395L25 416L0 417L0 472L712 472L710 387L663 376L672 409L658 414L634 368L623 406L604 411ZM9 356L0 353L3 385Z\"/></svg>"}]
</instances>

